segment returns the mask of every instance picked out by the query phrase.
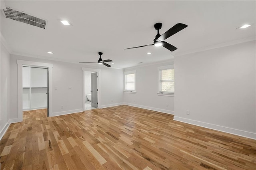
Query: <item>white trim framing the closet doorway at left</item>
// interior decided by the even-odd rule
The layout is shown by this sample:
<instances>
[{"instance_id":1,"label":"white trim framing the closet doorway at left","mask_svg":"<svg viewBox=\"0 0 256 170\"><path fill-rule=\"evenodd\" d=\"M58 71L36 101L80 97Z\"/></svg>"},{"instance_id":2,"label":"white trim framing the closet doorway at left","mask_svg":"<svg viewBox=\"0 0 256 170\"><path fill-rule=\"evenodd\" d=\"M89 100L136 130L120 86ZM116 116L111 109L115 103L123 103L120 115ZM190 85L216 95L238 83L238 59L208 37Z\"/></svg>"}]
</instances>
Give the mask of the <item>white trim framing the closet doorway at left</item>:
<instances>
[{"instance_id":1,"label":"white trim framing the closet doorway at left","mask_svg":"<svg viewBox=\"0 0 256 170\"><path fill-rule=\"evenodd\" d=\"M34 61L25 61L25 60L17 60L18 64L18 120L17 122L22 122L22 107L23 107L23 101L22 101L22 66L23 65L31 65L31 66L39 66L39 67L48 67L49 71L49 85L48 85L48 90L49 90L49 117L52 116L52 67L53 64L50 63L40 63L40 62L34 62Z\"/></svg>"}]
</instances>

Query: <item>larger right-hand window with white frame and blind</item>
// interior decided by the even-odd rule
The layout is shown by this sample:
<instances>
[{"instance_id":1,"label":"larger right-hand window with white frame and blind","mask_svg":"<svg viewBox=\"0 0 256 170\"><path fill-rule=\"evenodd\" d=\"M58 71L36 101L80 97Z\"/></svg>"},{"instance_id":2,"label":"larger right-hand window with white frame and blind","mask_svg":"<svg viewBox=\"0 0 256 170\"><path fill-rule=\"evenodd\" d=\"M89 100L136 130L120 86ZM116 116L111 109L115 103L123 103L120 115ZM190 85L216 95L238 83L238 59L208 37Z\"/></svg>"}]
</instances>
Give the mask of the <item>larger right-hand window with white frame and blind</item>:
<instances>
[{"instance_id":1,"label":"larger right-hand window with white frame and blind","mask_svg":"<svg viewBox=\"0 0 256 170\"><path fill-rule=\"evenodd\" d=\"M174 67L158 67L158 94L174 95Z\"/></svg>"}]
</instances>

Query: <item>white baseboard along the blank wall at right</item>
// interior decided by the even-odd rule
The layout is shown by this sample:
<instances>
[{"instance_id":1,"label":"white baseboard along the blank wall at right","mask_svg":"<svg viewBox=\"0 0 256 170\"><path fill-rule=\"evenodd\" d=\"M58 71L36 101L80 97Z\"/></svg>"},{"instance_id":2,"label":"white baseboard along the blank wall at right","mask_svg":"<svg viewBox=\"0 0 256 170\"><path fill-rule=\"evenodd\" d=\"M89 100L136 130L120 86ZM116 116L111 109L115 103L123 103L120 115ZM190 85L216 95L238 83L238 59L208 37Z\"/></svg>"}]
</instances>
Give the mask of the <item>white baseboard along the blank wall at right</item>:
<instances>
[{"instance_id":1,"label":"white baseboard along the blank wall at right","mask_svg":"<svg viewBox=\"0 0 256 170\"><path fill-rule=\"evenodd\" d=\"M247 132L247 131L244 131L244 130L229 128L229 127L223 127L223 126L214 125L214 124L210 124L210 123L204 123L204 122L200 122L200 121L194 121L194 120L191 120L191 119L186 119L186 118L177 117L177 116L174 116L174 121L189 123L191 125L210 128L210 129L213 129L213 130L218 130L218 131L221 131L221 132L235 134L235 135L243 136L243 137L246 137L246 138L256 139L256 133Z\"/></svg>"}]
</instances>

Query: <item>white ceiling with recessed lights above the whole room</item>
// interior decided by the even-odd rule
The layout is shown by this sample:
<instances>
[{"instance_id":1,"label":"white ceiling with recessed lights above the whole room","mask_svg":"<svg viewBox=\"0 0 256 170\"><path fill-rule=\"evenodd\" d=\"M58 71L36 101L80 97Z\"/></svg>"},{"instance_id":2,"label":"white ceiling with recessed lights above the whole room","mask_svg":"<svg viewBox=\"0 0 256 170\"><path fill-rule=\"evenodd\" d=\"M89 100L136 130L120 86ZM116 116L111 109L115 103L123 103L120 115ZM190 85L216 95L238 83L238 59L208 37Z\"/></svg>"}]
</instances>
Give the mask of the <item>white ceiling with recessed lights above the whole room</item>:
<instances>
[{"instance_id":1,"label":"white ceiling with recessed lights above the whole room","mask_svg":"<svg viewBox=\"0 0 256 170\"><path fill-rule=\"evenodd\" d=\"M138 62L164 62L175 55L222 43L255 40L256 36L255 1L4 2L12 9L48 20L44 30L4 18L1 12L1 34L12 53L72 63L96 62L101 51L103 60L114 61L113 67L127 68L139 65ZM72 26L63 26L60 19L68 19ZM152 44L157 22L163 24L160 34L177 23L188 25L165 40L176 46L176 51L154 46L124 50ZM236 29L246 23L253 25ZM149 51L151 55L147 55Z\"/></svg>"}]
</instances>

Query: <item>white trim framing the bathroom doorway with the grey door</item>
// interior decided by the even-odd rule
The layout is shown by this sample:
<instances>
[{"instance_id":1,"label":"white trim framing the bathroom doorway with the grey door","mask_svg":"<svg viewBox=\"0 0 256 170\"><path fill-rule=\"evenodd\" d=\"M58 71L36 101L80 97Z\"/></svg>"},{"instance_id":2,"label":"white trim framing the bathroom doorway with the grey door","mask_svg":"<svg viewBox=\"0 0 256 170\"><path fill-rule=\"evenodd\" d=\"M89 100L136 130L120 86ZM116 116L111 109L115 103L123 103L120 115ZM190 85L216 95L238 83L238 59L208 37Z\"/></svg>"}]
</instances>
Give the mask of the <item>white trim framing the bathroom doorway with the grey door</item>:
<instances>
[{"instance_id":1,"label":"white trim framing the bathroom doorway with the grey door","mask_svg":"<svg viewBox=\"0 0 256 170\"><path fill-rule=\"evenodd\" d=\"M84 102L85 102L85 91L84 91L84 71L91 71L91 72L98 72L98 109L101 108L101 98L100 98L100 93L101 93L101 69L92 69L92 68L85 68L85 67L82 67L82 108L83 108L83 111L84 111Z\"/></svg>"}]
</instances>

